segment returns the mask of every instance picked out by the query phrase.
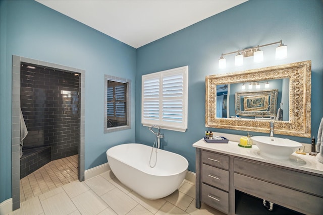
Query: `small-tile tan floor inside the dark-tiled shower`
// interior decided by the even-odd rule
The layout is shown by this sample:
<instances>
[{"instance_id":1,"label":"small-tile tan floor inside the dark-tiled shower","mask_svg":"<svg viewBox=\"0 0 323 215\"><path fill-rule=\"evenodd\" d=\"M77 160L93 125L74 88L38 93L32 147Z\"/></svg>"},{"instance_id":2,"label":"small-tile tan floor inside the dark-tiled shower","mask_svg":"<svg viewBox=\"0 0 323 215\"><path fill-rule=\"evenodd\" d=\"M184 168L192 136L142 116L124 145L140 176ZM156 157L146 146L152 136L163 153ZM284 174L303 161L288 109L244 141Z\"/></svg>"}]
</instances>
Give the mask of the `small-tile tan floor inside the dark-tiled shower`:
<instances>
[{"instance_id":1,"label":"small-tile tan floor inside the dark-tiled shower","mask_svg":"<svg viewBox=\"0 0 323 215\"><path fill-rule=\"evenodd\" d=\"M20 180L20 202L78 180L78 155L51 161Z\"/></svg>"}]
</instances>

